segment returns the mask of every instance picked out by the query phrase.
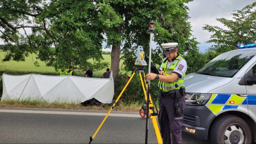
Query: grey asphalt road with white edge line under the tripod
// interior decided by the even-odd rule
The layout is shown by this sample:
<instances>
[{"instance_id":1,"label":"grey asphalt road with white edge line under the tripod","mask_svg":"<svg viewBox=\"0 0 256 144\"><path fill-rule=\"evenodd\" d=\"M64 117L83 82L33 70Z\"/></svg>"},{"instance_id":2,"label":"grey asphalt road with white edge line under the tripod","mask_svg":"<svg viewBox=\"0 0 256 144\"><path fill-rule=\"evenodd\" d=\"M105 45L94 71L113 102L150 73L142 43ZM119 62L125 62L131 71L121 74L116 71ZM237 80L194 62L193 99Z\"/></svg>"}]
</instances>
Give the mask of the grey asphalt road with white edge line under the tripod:
<instances>
[{"instance_id":1,"label":"grey asphalt road with white edge line under the tripod","mask_svg":"<svg viewBox=\"0 0 256 144\"><path fill-rule=\"evenodd\" d=\"M108 111L0 107L0 143L89 143ZM145 143L139 112L111 111L94 143ZM149 119L148 143L157 143ZM210 143L182 134L182 143Z\"/></svg>"}]
</instances>

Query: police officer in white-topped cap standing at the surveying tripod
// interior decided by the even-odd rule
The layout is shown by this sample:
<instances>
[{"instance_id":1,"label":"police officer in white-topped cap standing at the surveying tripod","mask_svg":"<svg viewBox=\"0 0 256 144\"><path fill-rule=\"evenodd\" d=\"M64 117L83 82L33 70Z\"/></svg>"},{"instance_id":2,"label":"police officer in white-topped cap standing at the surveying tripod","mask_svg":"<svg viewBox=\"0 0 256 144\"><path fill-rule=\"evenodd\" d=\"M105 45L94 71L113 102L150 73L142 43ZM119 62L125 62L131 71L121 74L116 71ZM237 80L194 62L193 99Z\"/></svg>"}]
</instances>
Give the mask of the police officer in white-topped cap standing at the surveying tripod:
<instances>
[{"instance_id":1,"label":"police officer in white-topped cap standing at the surveying tripod","mask_svg":"<svg viewBox=\"0 0 256 144\"><path fill-rule=\"evenodd\" d=\"M163 143L181 143L181 128L185 108L184 77L187 62L179 54L178 43L161 44L164 59L159 73L149 73L148 80L159 80L159 116Z\"/></svg>"}]
</instances>

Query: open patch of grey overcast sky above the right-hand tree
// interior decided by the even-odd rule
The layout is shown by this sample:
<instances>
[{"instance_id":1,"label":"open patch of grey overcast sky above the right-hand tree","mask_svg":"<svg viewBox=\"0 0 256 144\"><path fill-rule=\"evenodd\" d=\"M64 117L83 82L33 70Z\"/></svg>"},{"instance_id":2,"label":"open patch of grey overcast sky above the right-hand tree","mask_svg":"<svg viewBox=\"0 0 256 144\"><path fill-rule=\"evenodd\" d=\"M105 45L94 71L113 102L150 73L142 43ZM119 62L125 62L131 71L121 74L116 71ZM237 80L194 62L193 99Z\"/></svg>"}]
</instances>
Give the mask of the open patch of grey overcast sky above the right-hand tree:
<instances>
[{"instance_id":1,"label":"open patch of grey overcast sky above the right-hand tree","mask_svg":"<svg viewBox=\"0 0 256 144\"><path fill-rule=\"evenodd\" d=\"M187 4L189 8L188 21L192 26L192 35L201 43L199 50L204 52L212 44L205 43L210 40L213 33L203 30L204 24L225 28L216 18L232 19L231 13L234 10L242 10L246 5L252 4L255 0L194 0Z\"/></svg>"}]
</instances>

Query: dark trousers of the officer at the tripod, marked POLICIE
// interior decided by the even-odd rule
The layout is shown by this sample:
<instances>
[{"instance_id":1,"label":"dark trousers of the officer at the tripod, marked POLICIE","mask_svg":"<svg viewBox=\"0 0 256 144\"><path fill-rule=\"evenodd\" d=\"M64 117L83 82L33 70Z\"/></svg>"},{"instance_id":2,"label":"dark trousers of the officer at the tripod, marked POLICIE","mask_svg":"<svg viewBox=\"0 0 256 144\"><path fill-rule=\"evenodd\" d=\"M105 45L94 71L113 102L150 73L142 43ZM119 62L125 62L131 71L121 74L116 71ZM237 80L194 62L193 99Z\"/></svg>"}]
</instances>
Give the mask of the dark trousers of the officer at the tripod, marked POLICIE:
<instances>
[{"instance_id":1,"label":"dark trousers of the officer at the tripod, marked POLICIE","mask_svg":"<svg viewBox=\"0 0 256 144\"><path fill-rule=\"evenodd\" d=\"M180 98L180 116L177 116L176 109L174 107L175 99L170 96L160 97L159 102L159 116L161 135L163 143L181 143L181 129L183 120L183 111L185 109L185 97ZM172 141L171 141L172 140Z\"/></svg>"}]
</instances>

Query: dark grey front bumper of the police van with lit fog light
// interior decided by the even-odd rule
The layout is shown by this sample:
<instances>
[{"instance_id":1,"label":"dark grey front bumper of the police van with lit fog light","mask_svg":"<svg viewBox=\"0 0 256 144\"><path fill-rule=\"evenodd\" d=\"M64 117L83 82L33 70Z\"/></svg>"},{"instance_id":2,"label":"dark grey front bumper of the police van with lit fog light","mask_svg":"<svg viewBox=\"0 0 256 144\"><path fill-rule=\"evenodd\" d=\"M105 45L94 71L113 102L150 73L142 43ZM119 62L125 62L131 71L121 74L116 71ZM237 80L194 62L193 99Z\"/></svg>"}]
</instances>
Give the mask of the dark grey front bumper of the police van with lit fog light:
<instances>
[{"instance_id":1,"label":"dark grey front bumper of the police van with lit fog light","mask_svg":"<svg viewBox=\"0 0 256 144\"><path fill-rule=\"evenodd\" d=\"M184 109L184 119L182 131L195 138L207 140L209 127L216 116L206 106L186 105ZM186 130L195 130L194 133Z\"/></svg>"}]
</instances>

